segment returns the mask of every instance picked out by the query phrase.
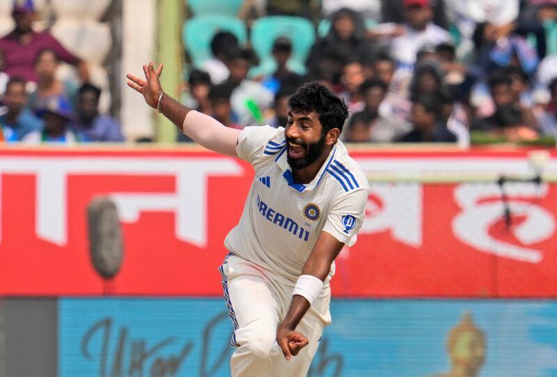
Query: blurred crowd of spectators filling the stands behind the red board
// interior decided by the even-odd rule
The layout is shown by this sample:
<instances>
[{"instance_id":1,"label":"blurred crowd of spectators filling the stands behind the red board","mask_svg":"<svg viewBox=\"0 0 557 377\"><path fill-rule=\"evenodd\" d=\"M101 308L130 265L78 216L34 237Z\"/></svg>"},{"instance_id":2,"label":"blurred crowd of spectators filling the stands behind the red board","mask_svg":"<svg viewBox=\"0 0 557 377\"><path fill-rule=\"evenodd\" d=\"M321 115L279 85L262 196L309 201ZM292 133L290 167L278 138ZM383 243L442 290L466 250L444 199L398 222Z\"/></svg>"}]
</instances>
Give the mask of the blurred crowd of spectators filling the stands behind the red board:
<instances>
[{"instance_id":1,"label":"blurred crowd of spectators filling the stands behind the red board","mask_svg":"<svg viewBox=\"0 0 557 377\"><path fill-rule=\"evenodd\" d=\"M194 62L186 46L182 101L228 127L284 126L288 96L317 80L350 105L347 142L555 143L557 0L258 3L254 20L302 17L317 38L296 65L297 37L273 36L271 68L249 38L226 28L212 36L209 59ZM32 1L15 4L15 30L0 39L3 139L123 141L118 123L98 111L100 89L83 62L31 30ZM81 87L56 80L58 61L77 68Z\"/></svg>"}]
</instances>

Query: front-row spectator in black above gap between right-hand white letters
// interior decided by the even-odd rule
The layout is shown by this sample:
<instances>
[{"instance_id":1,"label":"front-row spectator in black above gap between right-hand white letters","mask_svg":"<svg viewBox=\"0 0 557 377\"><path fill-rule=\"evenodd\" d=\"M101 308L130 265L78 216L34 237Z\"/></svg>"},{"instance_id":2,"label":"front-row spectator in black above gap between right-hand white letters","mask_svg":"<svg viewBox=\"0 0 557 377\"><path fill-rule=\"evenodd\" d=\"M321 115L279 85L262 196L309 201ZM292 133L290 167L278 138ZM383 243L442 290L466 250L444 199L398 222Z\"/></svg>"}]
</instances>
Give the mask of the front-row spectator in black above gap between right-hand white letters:
<instances>
[{"instance_id":1,"label":"front-row spectator in black above gap between right-hand white letters","mask_svg":"<svg viewBox=\"0 0 557 377\"><path fill-rule=\"evenodd\" d=\"M413 129L398 139L401 143L455 143L457 137L442 121L443 104L437 95L421 95L412 102Z\"/></svg>"}]
</instances>

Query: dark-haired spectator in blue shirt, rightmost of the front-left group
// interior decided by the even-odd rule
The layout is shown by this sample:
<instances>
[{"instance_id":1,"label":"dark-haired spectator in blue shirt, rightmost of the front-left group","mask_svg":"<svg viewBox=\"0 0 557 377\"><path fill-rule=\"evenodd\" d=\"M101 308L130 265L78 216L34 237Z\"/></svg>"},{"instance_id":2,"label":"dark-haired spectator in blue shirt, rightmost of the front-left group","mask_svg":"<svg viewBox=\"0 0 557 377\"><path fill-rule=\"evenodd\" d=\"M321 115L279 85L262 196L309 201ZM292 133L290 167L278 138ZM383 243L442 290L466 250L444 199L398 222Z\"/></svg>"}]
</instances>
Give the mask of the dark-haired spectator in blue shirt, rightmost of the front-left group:
<instances>
[{"instance_id":1,"label":"dark-haired spectator in blue shirt, rightmost of the front-left group","mask_svg":"<svg viewBox=\"0 0 557 377\"><path fill-rule=\"evenodd\" d=\"M87 141L124 141L120 125L108 115L99 114L101 90L91 84L84 84L77 95L77 116L70 128L83 135Z\"/></svg>"}]
</instances>

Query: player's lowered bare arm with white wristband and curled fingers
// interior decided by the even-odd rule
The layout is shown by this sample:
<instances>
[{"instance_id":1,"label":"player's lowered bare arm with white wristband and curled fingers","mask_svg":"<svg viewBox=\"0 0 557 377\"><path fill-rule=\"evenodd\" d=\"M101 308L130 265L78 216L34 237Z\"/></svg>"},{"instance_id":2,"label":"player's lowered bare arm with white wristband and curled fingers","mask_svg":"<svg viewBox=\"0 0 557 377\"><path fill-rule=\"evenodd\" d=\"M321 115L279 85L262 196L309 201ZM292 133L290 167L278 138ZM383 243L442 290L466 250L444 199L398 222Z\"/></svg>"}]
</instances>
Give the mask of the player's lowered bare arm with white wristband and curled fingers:
<instances>
[{"instance_id":1,"label":"player's lowered bare arm with white wristband and curled fingers","mask_svg":"<svg viewBox=\"0 0 557 377\"><path fill-rule=\"evenodd\" d=\"M324 279L327 278L331 270L331 263L333 263L343 246L344 243L341 243L326 231L322 231L319 238L317 238L317 242L313 246L311 254L304 264L304 268L301 270L301 276L305 277L306 284L309 284L307 293L310 296L312 295L312 290L320 291ZM315 287L316 284L317 287ZM290 360L292 355L297 355L301 348L308 344L308 339L295 331L295 329L298 323L300 323L301 318L306 314L306 311L308 311L311 302L306 298L307 294L304 291L300 292L303 295L296 294L296 290L294 293L288 313L276 330L276 342L281 346L286 360Z\"/></svg>"}]
</instances>

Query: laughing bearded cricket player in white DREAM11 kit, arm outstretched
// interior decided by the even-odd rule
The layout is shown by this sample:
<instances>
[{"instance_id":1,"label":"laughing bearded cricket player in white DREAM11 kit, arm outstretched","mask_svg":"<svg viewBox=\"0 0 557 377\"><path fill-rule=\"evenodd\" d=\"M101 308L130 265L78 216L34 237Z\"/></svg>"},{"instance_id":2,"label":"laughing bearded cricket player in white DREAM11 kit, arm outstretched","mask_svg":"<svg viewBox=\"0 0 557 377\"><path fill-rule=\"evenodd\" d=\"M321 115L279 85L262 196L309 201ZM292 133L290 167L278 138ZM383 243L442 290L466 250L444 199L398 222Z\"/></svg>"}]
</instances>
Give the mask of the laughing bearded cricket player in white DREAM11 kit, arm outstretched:
<instances>
[{"instance_id":1,"label":"laughing bearded cricket player in white DREAM11 kit, arm outstretched","mask_svg":"<svg viewBox=\"0 0 557 377\"><path fill-rule=\"evenodd\" d=\"M306 376L331 323L334 259L356 242L368 181L338 140L347 106L324 86L288 101L286 128L227 128L164 93L162 65L143 66L127 85L196 143L240 157L256 172L219 268L237 347L234 377Z\"/></svg>"}]
</instances>

